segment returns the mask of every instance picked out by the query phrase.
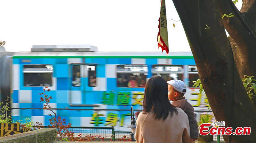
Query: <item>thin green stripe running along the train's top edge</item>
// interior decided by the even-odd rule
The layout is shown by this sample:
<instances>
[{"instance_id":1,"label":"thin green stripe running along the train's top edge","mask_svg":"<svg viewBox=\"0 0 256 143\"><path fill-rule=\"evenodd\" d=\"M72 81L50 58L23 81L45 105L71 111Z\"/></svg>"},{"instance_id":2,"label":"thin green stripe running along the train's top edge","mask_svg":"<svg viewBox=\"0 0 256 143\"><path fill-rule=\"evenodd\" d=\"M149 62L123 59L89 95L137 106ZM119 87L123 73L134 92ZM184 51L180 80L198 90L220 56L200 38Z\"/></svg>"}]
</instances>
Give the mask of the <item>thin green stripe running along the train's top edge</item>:
<instances>
[{"instance_id":1,"label":"thin green stripe running along the train's top edge","mask_svg":"<svg viewBox=\"0 0 256 143\"><path fill-rule=\"evenodd\" d=\"M113 59L194 59L193 56L13 56L13 59L68 59L68 58L113 58Z\"/></svg>"}]
</instances>

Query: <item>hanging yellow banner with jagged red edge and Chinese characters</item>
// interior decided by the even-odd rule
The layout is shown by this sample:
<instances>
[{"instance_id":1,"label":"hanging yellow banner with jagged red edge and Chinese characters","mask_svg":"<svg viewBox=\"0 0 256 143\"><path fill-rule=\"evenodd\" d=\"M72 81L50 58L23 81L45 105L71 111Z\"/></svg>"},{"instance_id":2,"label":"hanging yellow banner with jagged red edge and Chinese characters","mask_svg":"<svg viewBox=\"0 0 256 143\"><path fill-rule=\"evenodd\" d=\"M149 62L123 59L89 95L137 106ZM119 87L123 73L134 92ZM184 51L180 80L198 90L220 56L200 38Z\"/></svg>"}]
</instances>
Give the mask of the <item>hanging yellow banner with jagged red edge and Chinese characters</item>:
<instances>
[{"instance_id":1,"label":"hanging yellow banner with jagged red edge and Chinese characters","mask_svg":"<svg viewBox=\"0 0 256 143\"><path fill-rule=\"evenodd\" d=\"M158 34L157 34L157 42L158 42L158 48L162 48L162 52L164 50L166 51L166 54L169 53L168 48L168 32L167 32L167 20L166 20L166 9L165 9L165 0L161 1L161 11L160 11L160 17L158 19L159 25L158 25Z\"/></svg>"}]
</instances>

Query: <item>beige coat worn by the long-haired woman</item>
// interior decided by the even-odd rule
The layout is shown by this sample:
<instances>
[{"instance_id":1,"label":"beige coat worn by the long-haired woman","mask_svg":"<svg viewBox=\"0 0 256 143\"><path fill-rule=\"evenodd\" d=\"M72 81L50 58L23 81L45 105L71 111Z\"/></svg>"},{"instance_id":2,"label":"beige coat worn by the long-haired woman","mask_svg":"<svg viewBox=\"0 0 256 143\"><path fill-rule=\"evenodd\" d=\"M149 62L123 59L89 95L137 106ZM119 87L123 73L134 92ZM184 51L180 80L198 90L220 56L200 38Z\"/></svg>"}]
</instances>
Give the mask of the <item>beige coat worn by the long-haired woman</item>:
<instances>
[{"instance_id":1,"label":"beige coat worn by the long-haired woman","mask_svg":"<svg viewBox=\"0 0 256 143\"><path fill-rule=\"evenodd\" d=\"M136 121L135 139L137 143L193 143L189 135L187 114L177 108L163 119L155 119L153 112L141 112Z\"/></svg>"}]
</instances>

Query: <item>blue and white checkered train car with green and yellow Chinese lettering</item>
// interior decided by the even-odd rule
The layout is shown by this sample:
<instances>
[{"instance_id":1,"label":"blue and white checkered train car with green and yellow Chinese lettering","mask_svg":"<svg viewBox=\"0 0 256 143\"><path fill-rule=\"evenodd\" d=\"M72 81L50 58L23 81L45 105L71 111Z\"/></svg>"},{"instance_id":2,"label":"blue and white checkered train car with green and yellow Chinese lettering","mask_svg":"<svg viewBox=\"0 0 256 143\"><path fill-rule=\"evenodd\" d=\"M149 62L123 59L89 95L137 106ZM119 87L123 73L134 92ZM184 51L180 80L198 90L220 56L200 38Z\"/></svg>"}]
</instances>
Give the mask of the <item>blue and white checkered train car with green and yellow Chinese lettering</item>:
<instances>
[{"instance_id":1,"label":"blue and white checkered train car with green and yellow Chinese lettering","mask_svg":"<svg viewBox=\"0 0 256 143\"><path fill-rule=\"evenodd\" d=\"M181 79L197 119L208 111L208 101L192 81L198 79L192 53L98 52L90 45L33 46L31 52L12 57L12 118L49 124L40 93L51 91L57 115L72 126L114 126L130 131L130 108L142 110L144 86L152 75L166 81ZM212 113L210 113L212 114ZM212 115L210 116L213 117ZM212 118L214 120L214 117Z\"/></svg>"}]
</instances>

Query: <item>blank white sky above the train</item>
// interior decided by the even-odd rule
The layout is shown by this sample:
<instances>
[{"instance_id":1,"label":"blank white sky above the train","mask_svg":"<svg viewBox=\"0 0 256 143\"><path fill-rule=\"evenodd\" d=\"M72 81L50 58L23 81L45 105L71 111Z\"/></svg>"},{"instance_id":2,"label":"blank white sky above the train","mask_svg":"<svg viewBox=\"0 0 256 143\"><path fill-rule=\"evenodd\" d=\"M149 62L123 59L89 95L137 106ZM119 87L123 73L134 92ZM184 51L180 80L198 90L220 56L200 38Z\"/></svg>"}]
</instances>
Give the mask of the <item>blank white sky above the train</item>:
<instances>
[{"instance_id":1,"label":"blank white sky above the train","mask_svg":"<svg viewBox=\"0 0 256 143\"><path fill-rule=\"evenodd\" d=\"M238 7L240 9L242 1ZM172 0L166 0L169 50L190 51ZM1 0L0 40L6 51L32 45L93 45L99 51L161 51L160 0Z\"/></svg>"}]
</instances>

